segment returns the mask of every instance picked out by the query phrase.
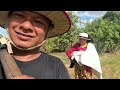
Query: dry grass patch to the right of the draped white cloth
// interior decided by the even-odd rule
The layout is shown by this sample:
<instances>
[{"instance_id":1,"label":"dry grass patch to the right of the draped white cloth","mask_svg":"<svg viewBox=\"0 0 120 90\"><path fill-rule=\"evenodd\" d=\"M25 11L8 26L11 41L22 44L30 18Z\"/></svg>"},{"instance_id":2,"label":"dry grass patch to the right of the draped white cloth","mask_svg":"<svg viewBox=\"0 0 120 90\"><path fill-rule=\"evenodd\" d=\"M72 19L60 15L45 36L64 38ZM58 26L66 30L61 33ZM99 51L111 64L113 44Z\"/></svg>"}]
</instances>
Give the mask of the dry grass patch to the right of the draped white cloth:
<instances>
[{"instance_id":1,"label":"dry grass patch to the right of the draped white cloth","mask_svg":"<svg viewBox=\"0 0 120 90\"><path fill-rule=\"evenodd\" d=\"M100 57L105 79L120 79L120 50Z\"/></svg>"}]
</instances>

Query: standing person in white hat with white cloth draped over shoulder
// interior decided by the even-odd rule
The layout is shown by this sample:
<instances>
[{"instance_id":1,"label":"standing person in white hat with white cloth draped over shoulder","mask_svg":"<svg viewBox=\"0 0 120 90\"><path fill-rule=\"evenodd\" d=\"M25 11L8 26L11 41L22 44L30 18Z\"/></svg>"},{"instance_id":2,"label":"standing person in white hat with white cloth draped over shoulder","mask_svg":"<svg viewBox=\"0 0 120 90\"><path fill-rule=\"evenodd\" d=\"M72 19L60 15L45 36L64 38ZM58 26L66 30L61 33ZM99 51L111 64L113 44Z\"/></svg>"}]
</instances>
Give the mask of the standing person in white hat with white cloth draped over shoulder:
<instances>
[{"instance_id":1,"label":"standing person in white hat with white cloth draped over shoulder","mask_svg":"<svg viewBox=\"0 0 120 90\"><path fill-rule=\"evenodd\" d=\"M79 43L66 51L71 61L70 68L74 67L75 70L75 79L91 79L92 71L102 78L99 56L90 40L87 33L80 33Z\"/></svg>"}]
</instances>

